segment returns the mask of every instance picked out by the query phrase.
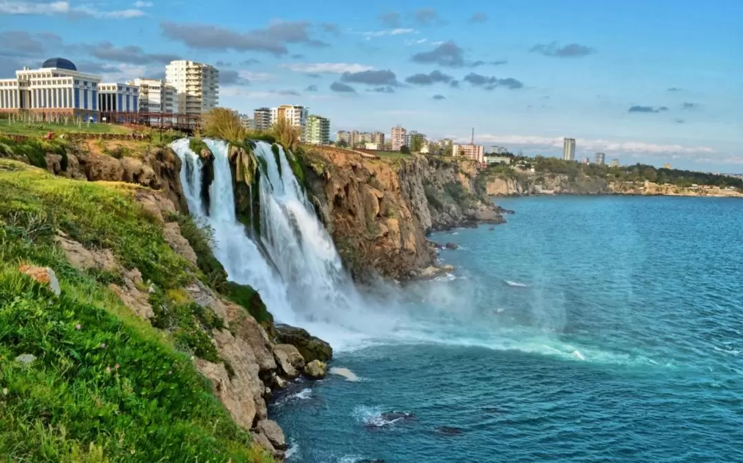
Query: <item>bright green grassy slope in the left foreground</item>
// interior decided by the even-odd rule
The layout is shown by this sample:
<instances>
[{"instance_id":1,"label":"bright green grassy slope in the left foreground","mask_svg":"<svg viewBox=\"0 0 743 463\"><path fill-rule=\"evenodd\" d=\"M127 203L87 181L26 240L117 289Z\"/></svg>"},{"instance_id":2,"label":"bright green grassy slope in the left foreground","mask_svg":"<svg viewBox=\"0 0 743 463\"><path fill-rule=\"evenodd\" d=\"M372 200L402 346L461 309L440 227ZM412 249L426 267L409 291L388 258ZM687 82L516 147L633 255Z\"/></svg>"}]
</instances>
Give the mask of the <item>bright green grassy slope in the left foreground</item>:
<instances>
[{"instance_id":1,"label":"bright green grassy slope in the left foreground","mask_svg":"<svg viewBox=\"0 0 743 463\"><path fill-rule=\"evenodd\" d=\"M269 462L192 364L203 341L192 337L204 329L194 320L212 318L169 297L193 278L213 280L169 248L132 191L0 159L0 455ZM155 329L120 302L108 283L122 275L71 266L55 244L58 230L140 269L152 297L172 309L166 315L179 318L175 329ZM21 263L53 269L62 294L22 275ZM23 354L36 359L15 360Z\"/></svg>"}]
</instances>

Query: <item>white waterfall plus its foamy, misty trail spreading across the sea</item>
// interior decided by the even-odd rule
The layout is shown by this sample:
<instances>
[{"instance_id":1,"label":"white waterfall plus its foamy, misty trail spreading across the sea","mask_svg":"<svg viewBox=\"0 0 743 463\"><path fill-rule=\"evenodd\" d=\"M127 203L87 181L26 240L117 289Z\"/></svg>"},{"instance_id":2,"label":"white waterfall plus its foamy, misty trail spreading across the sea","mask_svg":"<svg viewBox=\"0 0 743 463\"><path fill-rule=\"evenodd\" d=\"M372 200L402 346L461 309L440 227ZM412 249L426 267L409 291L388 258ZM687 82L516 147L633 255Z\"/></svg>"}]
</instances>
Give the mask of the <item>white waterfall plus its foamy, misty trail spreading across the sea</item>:
<instances>
[{"instance_id":1,"label":"white waterfall plus its foamy, misty trail spreading across the sea","mask_svg":"<svg viewBox=\"0 0 743 463\"><path fill-rule=\"evenodd\" d=\"M287 158L291 154L279 148L274 155L266 142L256 142L253 150L262 160L261 234L249 237L236 218L229 147L223 141L204 141L215 157L208 208L200 191L200 158L190 150L188 139L171 145L184 162L181 183L189 210L212 228L215 257L230 280L258 290L277 322L302 326L337 350L383 340L577 357L575 347L545 330L507 326L487 309L478 309L472 299L475 289L467 280L450 282L452 286L409 286L404 294L386 286L372 298L363 297L344 272L331 237L294 177Z\"/></svg>"}]
</instances>

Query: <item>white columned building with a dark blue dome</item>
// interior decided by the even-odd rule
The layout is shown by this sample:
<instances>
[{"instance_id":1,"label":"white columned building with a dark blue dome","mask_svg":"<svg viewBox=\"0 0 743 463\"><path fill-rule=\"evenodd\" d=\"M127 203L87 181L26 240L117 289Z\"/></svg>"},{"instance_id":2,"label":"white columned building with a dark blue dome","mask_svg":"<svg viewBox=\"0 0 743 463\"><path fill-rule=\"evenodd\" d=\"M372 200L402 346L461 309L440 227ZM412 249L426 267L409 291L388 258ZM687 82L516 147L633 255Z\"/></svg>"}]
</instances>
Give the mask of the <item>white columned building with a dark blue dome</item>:
<instances>
[{"instance_id":1,"label":"white columned building with a dark blue dome","mask_svg":"<svg viewBox=\"0 0 743 463\"><path fill-rule=\"evenodd\" d=\"M23 68L15 79L0 79L0 112L97 120L99 83L100 77L78 72L68 59L47 59L39 69Z\"/></svg>"}]
</instances>

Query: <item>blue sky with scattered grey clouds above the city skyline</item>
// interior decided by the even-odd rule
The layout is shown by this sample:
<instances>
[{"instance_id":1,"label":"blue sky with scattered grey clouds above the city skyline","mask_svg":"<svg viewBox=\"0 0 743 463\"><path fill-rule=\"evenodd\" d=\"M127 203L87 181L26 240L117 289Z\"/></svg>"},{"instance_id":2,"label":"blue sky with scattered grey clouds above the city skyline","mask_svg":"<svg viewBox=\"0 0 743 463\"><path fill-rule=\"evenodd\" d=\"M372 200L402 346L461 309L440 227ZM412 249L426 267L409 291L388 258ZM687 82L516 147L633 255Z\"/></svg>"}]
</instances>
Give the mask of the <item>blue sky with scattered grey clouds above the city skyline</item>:
<instances>
[{"instance_id":1,"label":"blue sky with scattered grey clouds above the city skyline","mask_svg":"<svg viewBox=\"0 0 743 463\"><path fill-rule=\"evenodd\" d=\"M525 154L743 171L743 1L0 0L0 75L64 56L107 80L221 70L220 104L299 104ZM437 72L438 71L438 72Z\"/></svg>"}]
</instances>

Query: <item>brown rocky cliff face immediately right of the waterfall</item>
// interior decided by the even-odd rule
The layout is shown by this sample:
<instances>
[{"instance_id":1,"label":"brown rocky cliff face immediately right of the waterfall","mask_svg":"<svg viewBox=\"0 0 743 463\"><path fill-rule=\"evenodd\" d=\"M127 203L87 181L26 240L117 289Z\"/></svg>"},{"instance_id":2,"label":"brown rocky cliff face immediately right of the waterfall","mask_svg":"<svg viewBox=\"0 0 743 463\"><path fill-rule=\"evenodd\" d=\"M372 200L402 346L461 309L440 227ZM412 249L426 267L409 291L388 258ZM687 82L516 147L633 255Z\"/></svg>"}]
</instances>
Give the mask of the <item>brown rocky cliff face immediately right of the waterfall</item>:
<instances>
[{"instance_id":1,"label":"brown rocky cliff face immediately right of the waterfall","mask_svg":"<svg viewBox=\"0 0 743 463\"><path fill-rule=\"evenodd\" d=\"M473 193L467 162L376 160L334 148L311 148L302 162L311 200L357 280L420 276L436 261L429 231L503 221Z\"/></svg>"}]
</instances>

